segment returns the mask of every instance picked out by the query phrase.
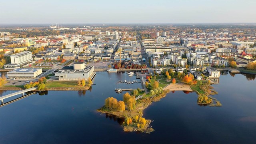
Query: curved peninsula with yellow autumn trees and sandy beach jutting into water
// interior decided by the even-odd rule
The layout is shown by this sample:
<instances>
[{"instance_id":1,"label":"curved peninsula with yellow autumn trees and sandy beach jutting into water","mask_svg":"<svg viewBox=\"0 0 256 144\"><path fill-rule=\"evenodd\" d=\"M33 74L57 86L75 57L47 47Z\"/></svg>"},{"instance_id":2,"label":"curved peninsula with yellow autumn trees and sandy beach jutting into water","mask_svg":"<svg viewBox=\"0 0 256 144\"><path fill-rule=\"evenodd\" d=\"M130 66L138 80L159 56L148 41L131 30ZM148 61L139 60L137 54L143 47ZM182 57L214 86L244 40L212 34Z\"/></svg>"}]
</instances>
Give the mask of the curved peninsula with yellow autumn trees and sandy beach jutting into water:
<instances>
[{"instance_id":1,"label":"curved peninsula with yellow autumn trees and sandy beach jutting into water","mask_svg":"<svg viewBox=\"0 0 256 144\"><path fill-rule=\"evenodd\" d=\"M98 109L98 112L111 114L119 118L124 118L122 124L124 132L154 132L150 127L151 120L143 118L144 109L152 102L157 102L164 98L167 93L176 90L184 92L196 92L198 94L197 104L200 106L222 106L220 102L210 95L218 94L212 90L210 80L196 80L192 74L180 72L166 72L165 75L154 74L145 82L147 90L140 88L123 95L123 101L109 97L105 100L105 105Z\"/></svg>"}]
</instances>

